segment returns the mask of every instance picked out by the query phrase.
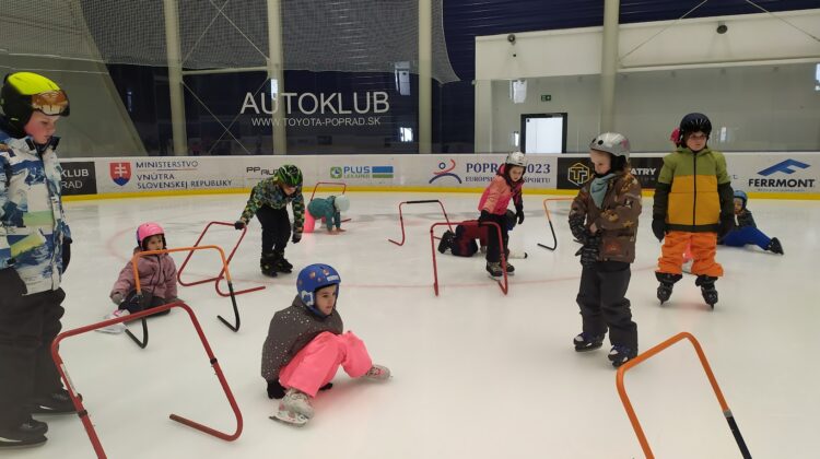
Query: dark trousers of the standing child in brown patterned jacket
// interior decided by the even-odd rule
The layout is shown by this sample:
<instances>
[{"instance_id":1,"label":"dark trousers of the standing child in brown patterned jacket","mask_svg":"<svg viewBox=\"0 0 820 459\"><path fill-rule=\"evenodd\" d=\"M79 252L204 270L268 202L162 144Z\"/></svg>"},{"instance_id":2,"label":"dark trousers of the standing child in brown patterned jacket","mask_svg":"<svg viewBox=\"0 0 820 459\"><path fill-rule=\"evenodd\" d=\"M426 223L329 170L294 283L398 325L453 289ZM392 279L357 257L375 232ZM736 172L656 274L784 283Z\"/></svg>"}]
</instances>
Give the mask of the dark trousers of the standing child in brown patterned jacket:
<instances>
[{"instance_id":1,"label":"dark trousers of the standing child in brown patterned jacket","mask_svg":"<svg viewBox=\"0 0 820 459\"><path fill-rule=\"evenodd\" d=\"M581 287L575 299L584 319L584 332L605 334L609 342L637 351L637 326L632 321L626 289L630 285L629 263L599 261L581 271Z\"/></svg>"}]
</instances>

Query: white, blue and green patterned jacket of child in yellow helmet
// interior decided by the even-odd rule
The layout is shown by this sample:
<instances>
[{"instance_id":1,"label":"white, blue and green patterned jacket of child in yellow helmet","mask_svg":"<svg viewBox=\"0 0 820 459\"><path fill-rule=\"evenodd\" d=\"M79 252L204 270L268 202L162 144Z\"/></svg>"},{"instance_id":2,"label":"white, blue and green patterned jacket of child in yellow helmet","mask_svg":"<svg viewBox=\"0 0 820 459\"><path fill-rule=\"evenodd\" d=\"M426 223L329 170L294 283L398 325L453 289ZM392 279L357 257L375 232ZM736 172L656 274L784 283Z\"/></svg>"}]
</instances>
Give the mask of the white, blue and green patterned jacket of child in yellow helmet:
<instances>
[{"instance_id":1,"label":"white, blue and green patterned jacket of child in yellow helmet","mask_svg":"<svg viewBox=\"0 0 820 459\"><path fill-rule=\"evenodd\" d=\"M27 294L57 290L62 244L71 238L62 209L56 138L38 148L15 139L0 118L0 269L14 267Z\"/></svg>"}]
</instances>

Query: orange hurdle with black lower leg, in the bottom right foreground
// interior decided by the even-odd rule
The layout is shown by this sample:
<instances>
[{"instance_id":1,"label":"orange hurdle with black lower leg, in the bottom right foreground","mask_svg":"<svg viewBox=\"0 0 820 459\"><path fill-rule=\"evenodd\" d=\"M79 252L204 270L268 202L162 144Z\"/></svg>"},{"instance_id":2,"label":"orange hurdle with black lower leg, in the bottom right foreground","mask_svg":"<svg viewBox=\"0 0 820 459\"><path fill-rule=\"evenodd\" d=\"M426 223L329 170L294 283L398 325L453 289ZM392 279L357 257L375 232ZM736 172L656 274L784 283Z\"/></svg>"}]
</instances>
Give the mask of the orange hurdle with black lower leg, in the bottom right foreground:
<instances>
[{"instance_id":1,"label":"orange hurdle with black lower leg, in the bottom right foreground","mask_svg":"<svg viewBox=\"0 0 820 459\"><path fill-rule=\"evenodd\" d=\"M712 390L715 391L715 397L717 397L717 402L721 403L723 415L726 417L726 422L729 423L729 429L731 429L731 434L735 436L735 442L737 442L737 445L740 448L740 454L743 455L743 459L751 459L751 454L749 454L749 448L746 447L746 442L743 442L743 437L742 435L740 435L740 429L738 428L737 423L735 422L735 417L731 415L731 410L729 410L729 405L726 403L726 399L723 397L721 387L717 385L717 379L715 379L714 373L712 373L712 367L708 365L708 361L706 360L706 355L703 353L701 343L699 343L698 340L694 339L694 337L691 333L687 333L687 332L681 332L681 333L673 336L672 338L669 338L668 340L656 345L655 348L652 348L648 351L640 354L635 358L626 361L626 363L624 363L618 368L618 374L616 375L616 385L618 386L618 395L621 397L621 402L623 403L623 408L626 410L626 415L629 416L630 422L632 423L632 428L635 429L635 435L637 435L637 440L641 443L641 448L644 450L644 455L646 456L647 459L655 458L655 455L653 455L652 452L652 448L649 448L649 443L646 440L646 435L644 435L644 431L641 427L641 423L637 421L637 415L635 414L635 410L632 408L632 402L630 402L629 396L626 396L626 389L623 386L623 375L625 375L626 372L629 372L632 367L639 365L640 363L648 360L649 357L660 353L660 351L664 351L665 349L682 340L689 340L689 342L692 343L694 351L698 353L698 358L700 358L701 365L703 365L703 370L706 373L708 382L712 385Z\"/></svg>"}]
</instances>

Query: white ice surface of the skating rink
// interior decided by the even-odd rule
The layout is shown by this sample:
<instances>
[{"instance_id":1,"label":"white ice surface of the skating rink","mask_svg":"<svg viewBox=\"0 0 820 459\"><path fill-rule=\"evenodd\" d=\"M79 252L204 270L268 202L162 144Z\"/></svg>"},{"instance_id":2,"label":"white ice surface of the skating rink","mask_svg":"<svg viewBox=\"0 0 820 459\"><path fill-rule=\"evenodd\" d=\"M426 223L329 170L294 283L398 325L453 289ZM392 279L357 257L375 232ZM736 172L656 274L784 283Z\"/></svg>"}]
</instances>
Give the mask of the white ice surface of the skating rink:
<instances>
[{"instance_id":1,"label":"white ice surface of the skating rink","mask_svg":"<svg viewBox=\"0 0 820 459\"><path fill-rule=\"evenodd\" d=\"M454 220L476 217L478 196L351 193L347 233L317 228L286 256L300 268L324 262L342 276L338 308L345 329L367 344L374 362L394 374L386 384L351 380L342 370L315 400L316 416L298 429L268 419L276 408L259 375L260 348L273 313L290 305L296 273L259 273L260 227L254 221L231 273L242 328L232 332L229 298L212 284L180 286L196 311L242 410L242 436L227 443L168 419L176 413L226 433L236 428L214 372L186 314L153 319L150 343L125 334L86 333L63 341L61 355L103 446L112 458L637 458L642 450L616 390L608 345L577 354L575 295L581 267L567 224L567 203L551 204L558 250L550 239L543 196L526 197L526 221L512 244L529 254L513 260L504 296L484 260L440 256L440 296L433 293L429 227L436 205L406 207L407 244L397 204L441 198ZM210 221L233 222L245 196L77 201L67 204L73 233L63 287L63 330L113 310L108 292L134 247L134 228L160 222L172 247L190 246ZM719 248L726 275L715 310L693 276L660 307L653 274L660 247L644 202L629 298L641 350L681 332L702 343L717 381L754 457L815 458L820 352L817 256L820 202L750 201L759 226L786 255L757 247ZM440 228L441 231L441 228ZM202 244L230 250L238 232L215 228ZM184 255L176 254L177 266ZM197 252L188 281L219 271L214 252ZM138 326L130 326L138 332ZM608 344L608 343L607 343ZM740 457L717 400L687 342L628 373L626 389L659 458ZM91 443L74 415L43 417L48 443L8 454L19 458L90 458Z\"/></svg>"}]
</instances>

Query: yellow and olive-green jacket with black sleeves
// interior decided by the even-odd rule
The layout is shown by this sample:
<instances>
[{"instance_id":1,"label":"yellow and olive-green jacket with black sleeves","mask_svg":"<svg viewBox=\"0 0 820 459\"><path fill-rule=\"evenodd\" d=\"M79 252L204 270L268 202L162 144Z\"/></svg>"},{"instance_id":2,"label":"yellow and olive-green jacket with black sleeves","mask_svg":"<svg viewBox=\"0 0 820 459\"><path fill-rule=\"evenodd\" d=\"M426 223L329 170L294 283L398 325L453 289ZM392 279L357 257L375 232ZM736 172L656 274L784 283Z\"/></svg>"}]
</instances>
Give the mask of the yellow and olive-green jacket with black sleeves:
<instances>
[{"instance_id":1,"label":"yellow and olive-green jacket with black sleeves","mask_svg":"<svg viewBox=\"0 0 820 459\"><path fill-rule=\"evenodd\" d=\"M734 212L723 153L707 148L693 153L681 146L664 157L653 219L664 219L669 231L717 233L721 219Z\"/></svg>"}]
</instances>

